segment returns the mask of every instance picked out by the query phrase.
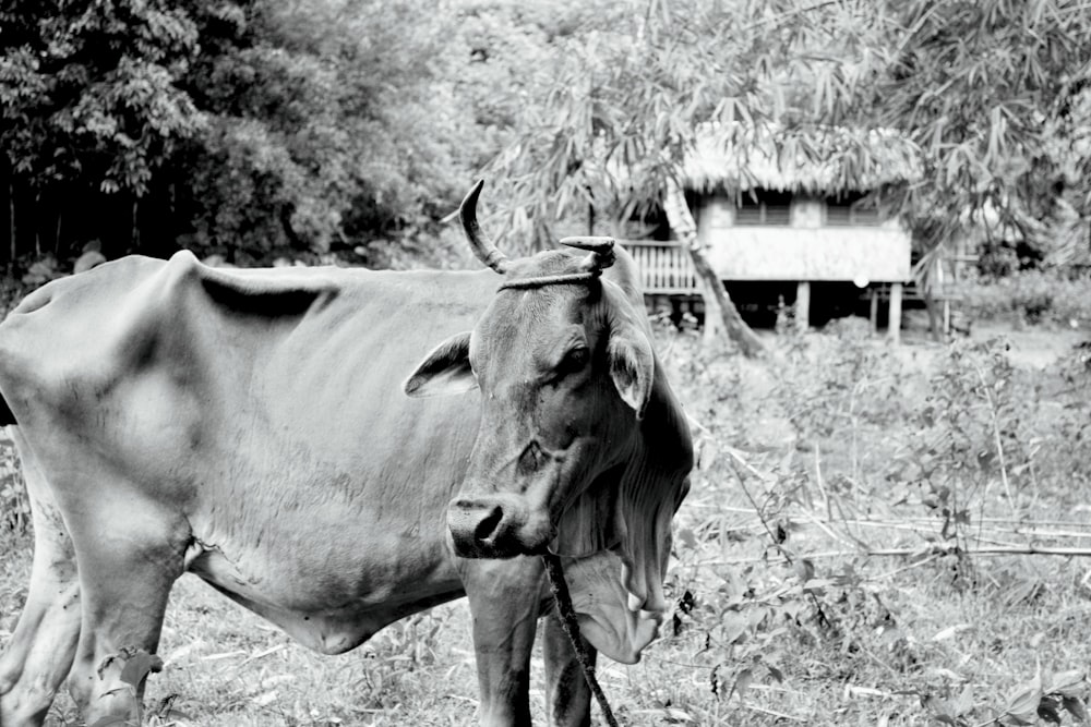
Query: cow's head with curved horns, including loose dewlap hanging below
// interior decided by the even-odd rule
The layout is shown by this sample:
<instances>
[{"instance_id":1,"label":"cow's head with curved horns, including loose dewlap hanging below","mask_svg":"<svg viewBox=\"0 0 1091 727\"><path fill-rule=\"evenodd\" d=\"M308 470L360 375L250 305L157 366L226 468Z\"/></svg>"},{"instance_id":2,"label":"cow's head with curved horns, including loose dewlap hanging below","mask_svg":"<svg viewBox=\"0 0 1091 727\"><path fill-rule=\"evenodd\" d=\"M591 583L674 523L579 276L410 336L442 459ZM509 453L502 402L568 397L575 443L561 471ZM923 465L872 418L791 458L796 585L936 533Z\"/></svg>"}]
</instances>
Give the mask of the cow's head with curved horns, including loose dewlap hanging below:
<instances>
[{"instance_id":1,"label":"cow's head with curved horns, including loose dewlap hanging below","mask_svg":"<svg viewBox=\"0 0 1091 727\"><path fill-rule=\"evenodd\" d=\"M585 253L507 258L477 223L480 191L479 182L463 202L461 221L478 257L503 276L500 289L475 329L440 343L405 384L413 397L481 390L477 441L447 510L455 552L584 558L570 580L575 572L596 581L590 609L620 604L627 617L619 625L603 611L597 620L613 622L598 627L628 631L597 639L590 623L587 635L608 655L635 661L664 610L662 561L680 499L634 506L626 500L647 496L602 484L650 476L632 471L656 386L643 305L601 278L614 263L612 240L567 239ZM626 522L636 511L650 522Z\"/></svg>"}]
</instances>

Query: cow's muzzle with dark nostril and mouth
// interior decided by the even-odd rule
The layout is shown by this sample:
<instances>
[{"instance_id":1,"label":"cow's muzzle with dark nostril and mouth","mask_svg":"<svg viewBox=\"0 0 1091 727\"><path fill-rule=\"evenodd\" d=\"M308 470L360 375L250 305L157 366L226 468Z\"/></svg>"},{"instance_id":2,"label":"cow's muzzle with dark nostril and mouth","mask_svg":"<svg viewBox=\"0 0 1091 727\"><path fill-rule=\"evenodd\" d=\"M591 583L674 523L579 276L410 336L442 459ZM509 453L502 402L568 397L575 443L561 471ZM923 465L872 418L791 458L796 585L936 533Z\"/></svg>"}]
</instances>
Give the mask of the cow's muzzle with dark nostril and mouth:
<instances>
[{"instance_id":1,"label":"cow's muzzle with dark nostril and mouth","mask_svg":"<svg viewBox=\"0 0 1091 727\"><path fill-rule=\"evenodd\" d=\"M553 538L549 516L517 495L455 498L447 506L447 528L463 558L541 555Z\"/></svg>"}]
</instances>

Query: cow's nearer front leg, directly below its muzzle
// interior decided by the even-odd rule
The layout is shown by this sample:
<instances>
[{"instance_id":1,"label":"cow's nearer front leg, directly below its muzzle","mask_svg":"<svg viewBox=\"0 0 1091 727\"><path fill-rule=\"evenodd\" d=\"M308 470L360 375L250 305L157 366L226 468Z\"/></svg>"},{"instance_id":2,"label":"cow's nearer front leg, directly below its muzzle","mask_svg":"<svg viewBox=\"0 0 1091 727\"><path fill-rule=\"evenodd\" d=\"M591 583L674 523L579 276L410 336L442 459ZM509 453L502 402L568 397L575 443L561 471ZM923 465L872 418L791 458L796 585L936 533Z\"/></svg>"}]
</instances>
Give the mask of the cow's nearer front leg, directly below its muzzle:
<instances>
[{"instance_id":1,"label":"cow's nearer front leg, directly below its muzzle","mask_svg":"<svg viewBox=\"0 0 1091 727\"><path fill-rule=\"evenodd\" d=\"M530 652L543 577L538 558L464 561L483 727L530 724Z\"/></svg>"}]
</instances>

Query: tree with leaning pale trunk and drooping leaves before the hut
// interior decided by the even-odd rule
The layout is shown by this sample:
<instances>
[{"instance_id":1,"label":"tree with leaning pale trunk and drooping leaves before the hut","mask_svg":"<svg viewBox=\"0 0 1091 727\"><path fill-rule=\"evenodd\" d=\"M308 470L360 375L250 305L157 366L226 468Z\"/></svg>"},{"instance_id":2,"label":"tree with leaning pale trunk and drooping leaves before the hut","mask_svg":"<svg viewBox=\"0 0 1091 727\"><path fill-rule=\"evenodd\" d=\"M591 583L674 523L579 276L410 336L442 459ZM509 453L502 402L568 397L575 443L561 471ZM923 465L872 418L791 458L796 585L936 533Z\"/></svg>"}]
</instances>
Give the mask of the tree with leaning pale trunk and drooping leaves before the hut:
<instances>
[{"instance_id":1,"label":"tree with leaning pale trunk and drooping leaves before the hut","mask_svg":"<svg viewBox=\"0 0 1091 727\"><path fill-rule=\"evenodd\" d=\"M758 354L760 342L696 242L688 207L678 203L702 125L804 116L796 104L810 98L784 90L801 87L793 53L812 40L808 25L784 22L796 15L788 2L596 7L591 27L559 48L555 83L496 161L513 190L508 229L541 241L552 238L550 220L586 205L612 206L619 219L666 208L718 299L724 329L744 353Z\"/></svg>"}]
</instances>

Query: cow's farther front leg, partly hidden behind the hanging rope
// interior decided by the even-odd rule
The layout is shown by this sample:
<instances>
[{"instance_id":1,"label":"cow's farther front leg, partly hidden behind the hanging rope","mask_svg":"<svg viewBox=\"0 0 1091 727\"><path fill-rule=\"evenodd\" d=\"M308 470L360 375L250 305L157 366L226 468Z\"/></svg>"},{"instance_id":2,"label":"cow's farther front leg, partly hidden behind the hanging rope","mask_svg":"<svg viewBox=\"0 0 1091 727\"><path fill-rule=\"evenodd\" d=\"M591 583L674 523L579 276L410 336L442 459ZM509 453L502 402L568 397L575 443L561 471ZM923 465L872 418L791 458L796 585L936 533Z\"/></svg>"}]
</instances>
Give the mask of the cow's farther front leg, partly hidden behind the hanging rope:
<instances>
[{"instance_id":1,"label":"cow's farther front leg, partly hidden behind the hanging rope","mask_svg":"<svg viewBox=\"0 0 1091 727\"><path fill-rule=\"evenodd\" d=\"M596 651L579 637L595 664ZM546 661L546 714L550 727L587 727L591 724L591 689L555 607L550 608L542 634Z\"/></svg>"}]
</instances>

